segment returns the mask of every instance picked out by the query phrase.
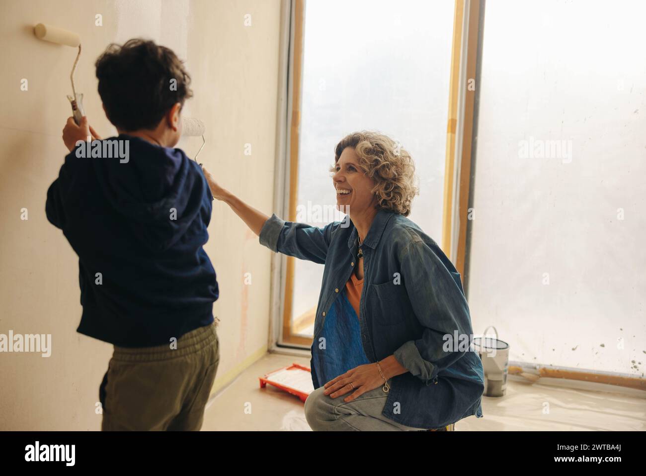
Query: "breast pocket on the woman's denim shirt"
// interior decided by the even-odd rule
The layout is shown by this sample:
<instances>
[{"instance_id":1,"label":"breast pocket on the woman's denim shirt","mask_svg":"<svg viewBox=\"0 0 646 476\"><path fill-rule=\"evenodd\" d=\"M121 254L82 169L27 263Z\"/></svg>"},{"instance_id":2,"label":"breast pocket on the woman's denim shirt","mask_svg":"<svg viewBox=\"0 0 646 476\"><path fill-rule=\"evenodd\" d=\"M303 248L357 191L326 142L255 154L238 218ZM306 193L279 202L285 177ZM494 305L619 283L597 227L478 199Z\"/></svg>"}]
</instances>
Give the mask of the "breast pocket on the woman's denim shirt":
<instances>
[{"instance_id":1,"label":"breast pocket on the woman's denim shirt","mask_svg":"<svg viewBox=\"0 0 646 476\"><path fill-rule=\"evenodd\" d=\"M408 294L403 284L392 281L370 285L370 294L366 301L366 310L379 325L398 325L404 323L406 312L410 310Z\"/></svg>"}]
</instances>

